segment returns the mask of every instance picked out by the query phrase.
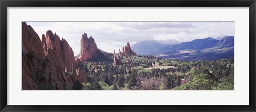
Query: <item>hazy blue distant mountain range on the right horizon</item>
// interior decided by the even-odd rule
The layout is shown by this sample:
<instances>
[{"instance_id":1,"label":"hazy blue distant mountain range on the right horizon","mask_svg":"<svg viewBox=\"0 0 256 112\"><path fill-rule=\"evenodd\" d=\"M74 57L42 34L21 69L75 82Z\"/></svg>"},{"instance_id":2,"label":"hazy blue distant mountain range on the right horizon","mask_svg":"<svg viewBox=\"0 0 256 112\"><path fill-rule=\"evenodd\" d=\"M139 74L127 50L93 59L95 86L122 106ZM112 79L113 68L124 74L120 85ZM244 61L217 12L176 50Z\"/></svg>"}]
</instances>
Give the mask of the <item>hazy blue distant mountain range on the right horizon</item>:
<instances>
[{"instance_id":1,"label":"hazy blue distant mountain range on the right horizon","mask_svg":"<svg viewBox=\"0 0 256 112\"><path fill-rule=\"evenodd\" d=\"M234 58L234 36L226 36L220 40L208 37L181 43L171 40L170 44L147 40L137 42L132 49L138 55L154 55L169 59L197 61Z\"/></svg>"}]
</instances>

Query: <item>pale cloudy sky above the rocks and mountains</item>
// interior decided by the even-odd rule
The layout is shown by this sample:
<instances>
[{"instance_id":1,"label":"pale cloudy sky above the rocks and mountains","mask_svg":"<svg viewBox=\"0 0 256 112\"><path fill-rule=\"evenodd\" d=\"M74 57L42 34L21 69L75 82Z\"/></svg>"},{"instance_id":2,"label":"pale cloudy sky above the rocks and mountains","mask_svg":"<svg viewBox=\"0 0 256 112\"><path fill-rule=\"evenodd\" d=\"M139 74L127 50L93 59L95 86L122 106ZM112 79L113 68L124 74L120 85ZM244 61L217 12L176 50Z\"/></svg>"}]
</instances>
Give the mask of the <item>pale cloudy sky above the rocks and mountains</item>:
<instances>
[{"instance_id":1,"label":"pale cloudy sky above the rocks and mountains","mask_svg":"<svg viewBox=\"0 0 256 112\"><path fill-rule=\"evenodd\" d=\"M235 35L235 22L27 22L42 38L47 30L66 39L77 56L83 33L92 36L97 47L112 53L130 42L178 40L180 42Z\"/></svg>"}]
</instances>

